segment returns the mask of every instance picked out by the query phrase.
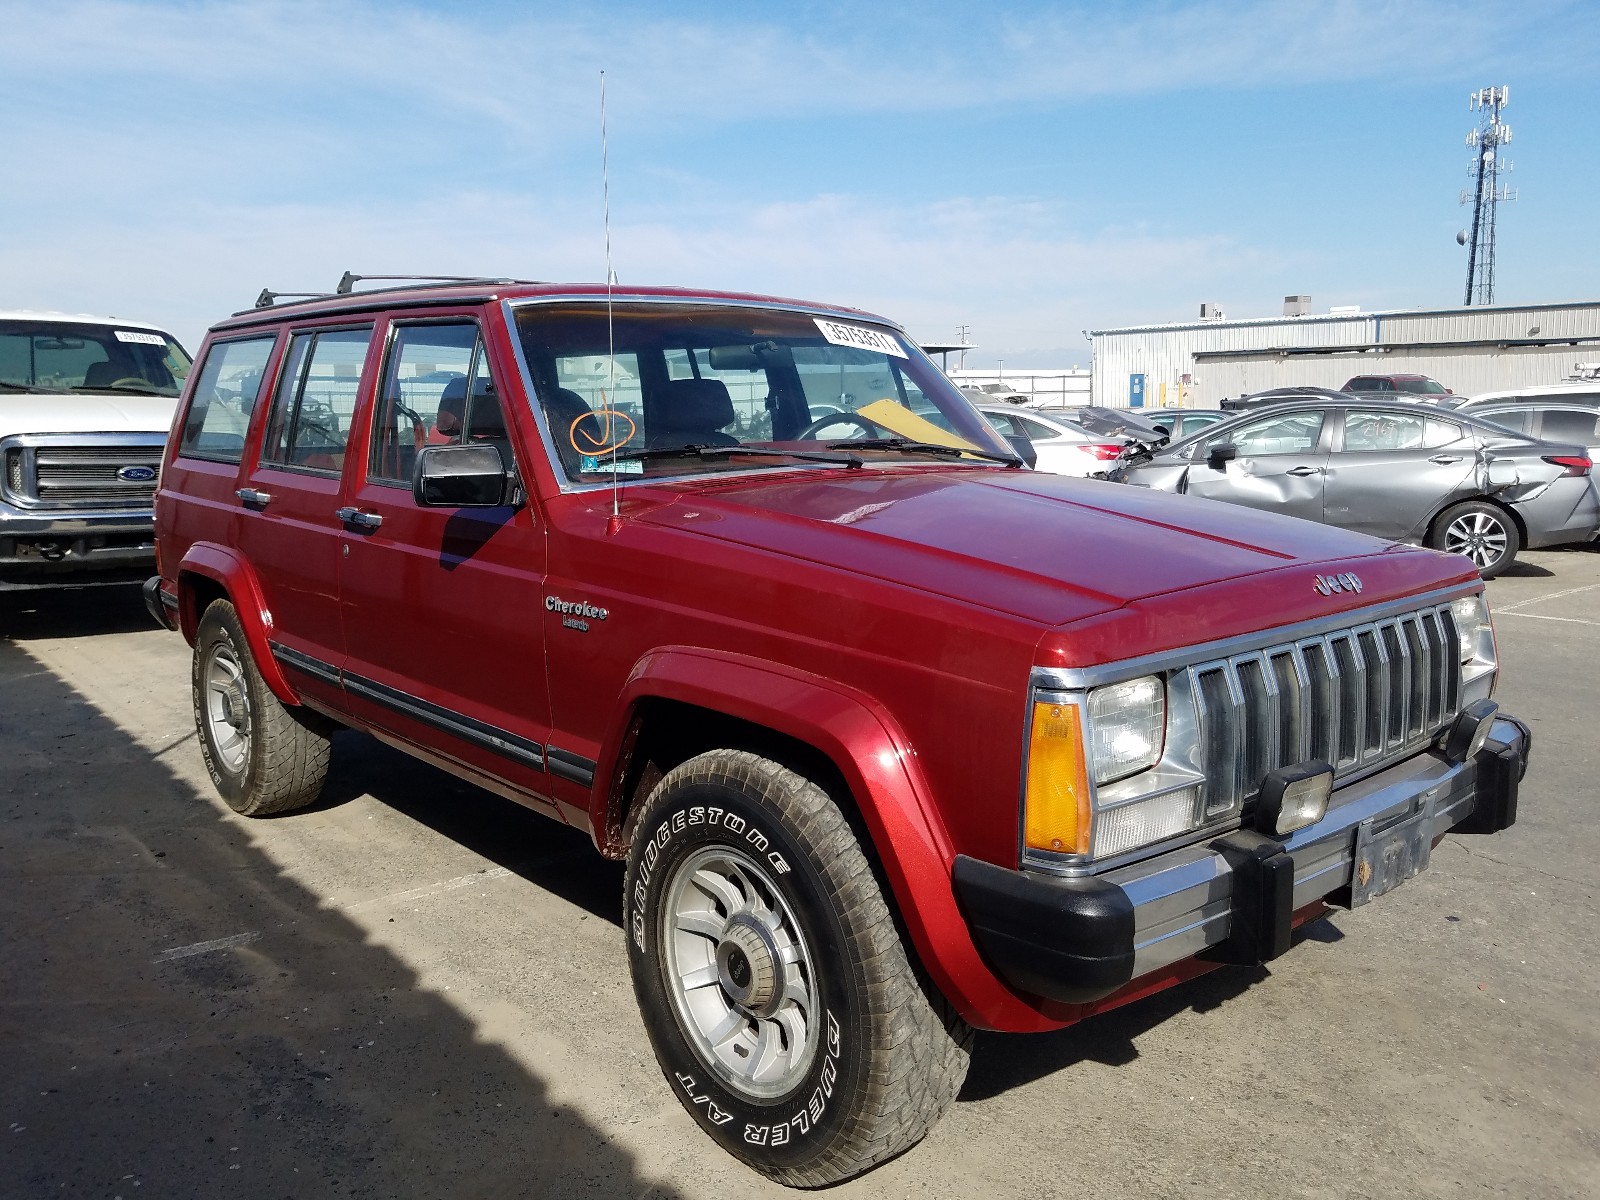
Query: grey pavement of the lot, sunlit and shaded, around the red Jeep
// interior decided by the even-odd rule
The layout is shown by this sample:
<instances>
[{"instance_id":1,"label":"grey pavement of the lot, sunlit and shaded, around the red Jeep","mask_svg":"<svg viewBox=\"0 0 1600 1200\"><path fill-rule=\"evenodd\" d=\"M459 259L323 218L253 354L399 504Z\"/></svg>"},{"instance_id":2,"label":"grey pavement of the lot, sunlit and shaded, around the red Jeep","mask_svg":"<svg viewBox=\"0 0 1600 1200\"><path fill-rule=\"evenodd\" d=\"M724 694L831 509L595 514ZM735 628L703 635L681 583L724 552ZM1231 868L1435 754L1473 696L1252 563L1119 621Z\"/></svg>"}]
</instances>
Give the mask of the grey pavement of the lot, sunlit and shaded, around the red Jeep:
<instances>
[{"instance_id":1,"label":"grey pavement of the lot, sunlit and shaded, around the red Jeep","mask_svg":"<svg viewBox=\"0 0 1600 1200\"><path fill-rule=\"evenodd\" d=\"M838 1197L1600 1195L1600 552L1490 584L1520 821L1037 1037ZM621 869L342 733L325 798L213 794L136 589L0 595L0 1197L786 1195L634 1008Z\"/></svg>"}]
</instances>

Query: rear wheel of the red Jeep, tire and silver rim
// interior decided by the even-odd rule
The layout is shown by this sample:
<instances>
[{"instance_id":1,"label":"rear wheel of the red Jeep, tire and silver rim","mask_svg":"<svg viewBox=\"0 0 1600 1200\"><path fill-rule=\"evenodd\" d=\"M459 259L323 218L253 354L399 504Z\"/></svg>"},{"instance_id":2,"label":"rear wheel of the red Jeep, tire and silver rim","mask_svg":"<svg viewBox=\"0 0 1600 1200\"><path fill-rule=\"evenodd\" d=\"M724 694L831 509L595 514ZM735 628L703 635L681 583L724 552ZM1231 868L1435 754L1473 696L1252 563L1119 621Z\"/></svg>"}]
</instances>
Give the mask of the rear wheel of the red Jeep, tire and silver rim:
<instances>
[{"instance_id":1,"label":"rear wheel of the red Jeep, tire and silver rim","mask_svg":"<svg viewBox=\"0 0 1600 1200\"><path fill-rule=\"evenodd\" d=\"M317 798L328 776L331 723L272 694L227 600L213 600L200 616L190 691L200 755L229 808L270 816Z\"/></svg>"}]
</instances>

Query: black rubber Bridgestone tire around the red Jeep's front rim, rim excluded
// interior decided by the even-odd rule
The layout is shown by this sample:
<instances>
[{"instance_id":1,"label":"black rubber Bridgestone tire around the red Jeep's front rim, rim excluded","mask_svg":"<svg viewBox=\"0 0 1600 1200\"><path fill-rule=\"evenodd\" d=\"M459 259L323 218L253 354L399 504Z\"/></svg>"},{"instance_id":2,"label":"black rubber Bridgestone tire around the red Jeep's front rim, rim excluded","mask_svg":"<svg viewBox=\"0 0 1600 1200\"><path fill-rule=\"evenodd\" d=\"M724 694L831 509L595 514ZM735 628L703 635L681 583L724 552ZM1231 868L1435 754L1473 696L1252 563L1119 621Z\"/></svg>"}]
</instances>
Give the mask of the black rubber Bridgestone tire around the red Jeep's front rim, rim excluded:
<instances>
[{"instance_id":1,"label":"black rubber Bridgestone tire around the red Jeep's front rim, rim excluded","mask_svg":"<svg viewBox=\"0 0 1600 1200\"><path fill-rule=\"evenodd\" d=\"M920 1141L960 1090L971 1030L914 970L870 862L829 795L755 754L712 750L669 771L629 814L626 835L634 992L662 1074L701 1128L795 1187L848 1179ZM810 950L810 1029L821 1040L794 1059L797 1082L786 1078L781 1094L757 1094L702 1056L674 1000L661 944L669 883L706 853L760 867Z\"/></svg>"}]
</instances>

